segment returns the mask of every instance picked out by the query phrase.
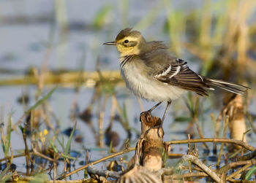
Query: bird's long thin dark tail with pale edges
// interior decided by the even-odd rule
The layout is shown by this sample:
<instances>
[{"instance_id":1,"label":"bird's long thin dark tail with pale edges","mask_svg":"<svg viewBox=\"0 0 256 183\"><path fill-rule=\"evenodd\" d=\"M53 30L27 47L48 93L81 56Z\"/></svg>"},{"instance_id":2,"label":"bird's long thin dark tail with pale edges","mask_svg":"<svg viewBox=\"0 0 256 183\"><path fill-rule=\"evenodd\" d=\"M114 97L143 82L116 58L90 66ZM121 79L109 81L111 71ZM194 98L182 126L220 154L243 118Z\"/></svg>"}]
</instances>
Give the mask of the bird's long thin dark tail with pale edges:
<instances>
[{"instance_id":1,"label":"bird's long thin dark tail with pale edges","mask_svg":"<svg viewBox=\"0 0 256 183\"><path fill-rule=\"evenodd\" d=\"M233 82L225 82L222 80L218 79L209 79L209 78L204 78L206 85L210 87L219 87L222 88L223 90L227 90L232 93L236 93L238 95L244 95L246 90L249 89L249 87L243 86L243 85L238 85Z\"/></svg>"}]
</instances>

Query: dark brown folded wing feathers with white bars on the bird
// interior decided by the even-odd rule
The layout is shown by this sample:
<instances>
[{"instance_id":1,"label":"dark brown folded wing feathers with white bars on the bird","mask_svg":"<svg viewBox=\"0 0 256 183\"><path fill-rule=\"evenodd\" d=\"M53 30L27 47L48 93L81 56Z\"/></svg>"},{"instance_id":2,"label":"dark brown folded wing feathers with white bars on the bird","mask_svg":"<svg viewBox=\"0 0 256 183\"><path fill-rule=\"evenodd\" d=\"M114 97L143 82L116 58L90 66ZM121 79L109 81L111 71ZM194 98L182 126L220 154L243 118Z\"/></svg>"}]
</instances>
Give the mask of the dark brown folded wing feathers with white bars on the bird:
<instances>
[{"instance_id":1,"label":"dark brown folded wing feathers with white bars on the bird","mask_svg":"<svg viewBox=\"0 0 256 183\"><path fill-rule=\"evenodd\" d=\"M154 73L154 78L167 85L175 85L184 90L192 90L200 96L208 96L205 88L209 86L203 77L189 69L184 60L177 58L165 64L161 70Z\"/></svg>"}]
</instances>

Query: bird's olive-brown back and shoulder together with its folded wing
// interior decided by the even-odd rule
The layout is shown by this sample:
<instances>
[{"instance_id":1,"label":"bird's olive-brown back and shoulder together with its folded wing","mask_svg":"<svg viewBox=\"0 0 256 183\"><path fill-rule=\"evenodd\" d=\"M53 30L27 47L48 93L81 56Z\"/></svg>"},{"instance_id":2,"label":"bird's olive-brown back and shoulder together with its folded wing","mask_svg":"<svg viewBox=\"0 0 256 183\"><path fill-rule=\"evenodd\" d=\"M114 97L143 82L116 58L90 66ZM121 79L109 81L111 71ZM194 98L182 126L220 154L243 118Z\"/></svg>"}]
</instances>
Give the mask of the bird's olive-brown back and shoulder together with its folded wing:
<instances>
[{"instance_id":1,"label":"bird's olive-brown back and shoulder together with its folded wing","mask_svg":"<svg viewBox=\"0 0 256 183\"><path fill-rule=\"evenodd\" d=\"M154 42L154 44L162 43ZM150 76L159 82L194 91L200 96L208 96L205 89L210 87L206 84L204 77L189 69L187 62L174 57L169 49L163 47L154 50L152 48L140 55L140 59L146 65Z\"/></svg>"}]
</instances>

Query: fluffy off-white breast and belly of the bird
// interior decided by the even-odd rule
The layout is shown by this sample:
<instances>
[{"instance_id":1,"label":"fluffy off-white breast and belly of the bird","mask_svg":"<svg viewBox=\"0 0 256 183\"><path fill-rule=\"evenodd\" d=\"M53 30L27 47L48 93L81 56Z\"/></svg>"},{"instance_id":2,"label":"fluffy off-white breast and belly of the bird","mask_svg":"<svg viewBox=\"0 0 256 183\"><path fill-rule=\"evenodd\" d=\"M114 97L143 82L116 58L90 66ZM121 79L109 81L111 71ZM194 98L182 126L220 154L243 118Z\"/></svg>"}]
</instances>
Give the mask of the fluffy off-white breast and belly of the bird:
<instances>
[{"instance_id":1,"label":"fluffy off-white breast and belly of the bird","mask_svg":"<svg viewBox=\"0 0 256 183\"><path fill-rule=\"evenodd\" d=\"M184 90L159 82L154 77L143 74L135 63L128 62L121 68L121 75L127 87L136 96L150 101L172 101L184 93Z\"/></svg>"}]
</instances>

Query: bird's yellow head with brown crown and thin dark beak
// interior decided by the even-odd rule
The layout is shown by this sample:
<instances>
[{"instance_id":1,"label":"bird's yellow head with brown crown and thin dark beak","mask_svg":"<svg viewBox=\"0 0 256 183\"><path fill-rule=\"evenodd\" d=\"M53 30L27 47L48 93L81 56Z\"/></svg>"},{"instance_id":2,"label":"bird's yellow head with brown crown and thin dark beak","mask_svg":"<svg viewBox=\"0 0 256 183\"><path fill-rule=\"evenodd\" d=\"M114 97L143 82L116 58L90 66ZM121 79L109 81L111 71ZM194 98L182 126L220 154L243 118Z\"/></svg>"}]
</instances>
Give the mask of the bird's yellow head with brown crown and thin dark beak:
<instances>
[{"instance_id":1,"label":"bird's yellow head with brown crown and thin dark beak","mask_svg":"<svg viewBox=\"0 0 256 183\"><path fill-rule=\"evenodd\" d=\"M146 44L146 40L139 31L132 31L132 28L124 28L116 36L113 42L105 42L105 45L115 45L120 56L138 55Z\"/></svg>"}]
</instances>

